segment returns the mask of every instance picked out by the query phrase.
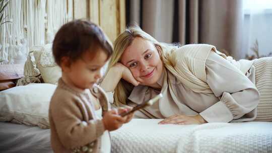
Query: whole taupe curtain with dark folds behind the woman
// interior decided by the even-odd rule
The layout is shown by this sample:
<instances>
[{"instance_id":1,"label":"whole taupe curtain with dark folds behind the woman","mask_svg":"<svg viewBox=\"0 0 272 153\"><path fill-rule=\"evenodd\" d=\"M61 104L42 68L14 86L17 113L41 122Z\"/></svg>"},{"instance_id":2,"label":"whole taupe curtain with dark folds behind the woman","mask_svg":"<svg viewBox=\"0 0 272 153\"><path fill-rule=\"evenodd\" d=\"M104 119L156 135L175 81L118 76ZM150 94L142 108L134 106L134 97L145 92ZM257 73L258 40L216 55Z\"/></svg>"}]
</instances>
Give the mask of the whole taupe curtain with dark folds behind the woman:
<instances>
[{"instance_id":1,"label":"whole taupe curtain with dark folds behind the woman","mask_svg":"<svg viewBox=\"0 0 272 153\"><path fill-rule=\"evenodd\" d=\"M213 44L236 59L244 58L242 1L128 0L127 24L137 22L161 42ZM129 9L129 10L128 10Z\"/></svg>"}]
</instances>

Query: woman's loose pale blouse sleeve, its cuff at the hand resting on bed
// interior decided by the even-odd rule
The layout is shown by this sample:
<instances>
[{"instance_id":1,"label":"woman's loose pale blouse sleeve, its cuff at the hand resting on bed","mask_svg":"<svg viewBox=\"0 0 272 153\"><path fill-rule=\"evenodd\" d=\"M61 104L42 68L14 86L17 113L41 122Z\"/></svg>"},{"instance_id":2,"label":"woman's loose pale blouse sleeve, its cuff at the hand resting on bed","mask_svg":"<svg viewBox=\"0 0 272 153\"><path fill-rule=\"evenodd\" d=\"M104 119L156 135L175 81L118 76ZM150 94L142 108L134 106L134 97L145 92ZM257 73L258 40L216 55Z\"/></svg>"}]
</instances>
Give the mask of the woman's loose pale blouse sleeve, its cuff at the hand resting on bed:
<instances>
[{"instance_id":1,"label":"woman's loose pale blouse sleeve, its cuff at the hand resting on bed","mask_svg":"<svg viewBox=\"0 0 272 153\"><path fill-rule=\"evenodd\" d=\"M220 99L200 113L207 122L254 120L259 92L245 74L215 52L206 61L206 74L207 84Z\"/></svg>"}]
</instances>

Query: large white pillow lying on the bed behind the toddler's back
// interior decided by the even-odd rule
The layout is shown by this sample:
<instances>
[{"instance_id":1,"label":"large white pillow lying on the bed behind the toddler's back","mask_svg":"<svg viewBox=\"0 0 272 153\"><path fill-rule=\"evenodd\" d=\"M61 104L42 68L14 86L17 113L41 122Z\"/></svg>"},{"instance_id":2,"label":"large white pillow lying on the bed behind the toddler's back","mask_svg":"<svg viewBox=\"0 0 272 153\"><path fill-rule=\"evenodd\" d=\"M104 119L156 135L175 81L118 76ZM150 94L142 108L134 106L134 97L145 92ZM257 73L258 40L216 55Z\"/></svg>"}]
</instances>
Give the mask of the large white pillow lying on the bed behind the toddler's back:
<instances>
[{"instance_id":1,"label":"large white pillow lying on the bed behind the toddler's back","mask_svg":"<svg viewBox=\"0 0 272 153\"><path fill-rule=\"evenodd\" d=\"M55 89L52 84L29 84L0 92L0 121L49 128L48 109Z\"/></svg>"}]
</instances>

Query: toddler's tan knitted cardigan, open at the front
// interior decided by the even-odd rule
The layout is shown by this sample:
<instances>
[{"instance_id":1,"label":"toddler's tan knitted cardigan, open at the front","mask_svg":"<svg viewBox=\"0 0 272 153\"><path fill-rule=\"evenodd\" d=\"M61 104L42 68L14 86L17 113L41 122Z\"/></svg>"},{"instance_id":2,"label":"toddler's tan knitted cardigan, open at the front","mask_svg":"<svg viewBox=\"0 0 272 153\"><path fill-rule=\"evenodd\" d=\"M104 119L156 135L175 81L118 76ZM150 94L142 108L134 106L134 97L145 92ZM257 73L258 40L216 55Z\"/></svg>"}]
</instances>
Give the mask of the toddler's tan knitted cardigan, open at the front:
<instances>
[{"instance_id":1,"label":"toddler's tan knitted cardigan, open at the front","mask_svg":"<svg viewBox=\"0 0 272 153\"><path fill-rule=\"evenodd\" d=\"M90 91L98 98L103 111L108 111L108 100L102 89L94 86ZM105 128L102 120L96 118L95 109L88 98L87 92L70 87L59 79L49 106L54 152L83 152L86 149L100 152L100 136Z\"/></svg>"}]
</instances>

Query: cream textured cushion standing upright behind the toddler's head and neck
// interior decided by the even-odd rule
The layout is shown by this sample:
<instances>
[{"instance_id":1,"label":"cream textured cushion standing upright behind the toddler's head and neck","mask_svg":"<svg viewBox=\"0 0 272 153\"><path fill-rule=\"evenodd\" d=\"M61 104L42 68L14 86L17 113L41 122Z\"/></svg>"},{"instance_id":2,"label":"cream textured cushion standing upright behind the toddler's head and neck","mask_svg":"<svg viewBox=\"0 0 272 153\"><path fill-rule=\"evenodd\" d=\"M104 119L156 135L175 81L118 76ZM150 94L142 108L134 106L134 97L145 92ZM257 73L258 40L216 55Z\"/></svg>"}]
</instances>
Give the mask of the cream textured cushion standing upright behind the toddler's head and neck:
<instances>
[{"instance_id":1,"label":"cream textured cushion standing upright behind the toddler's head and neck","mask_svg":"<svg viewBox=\"0 0 272 153\"><path fill-rule=\"evenodd\" d=\"M52 44L35 46L31 50L34 51L35 62L44 83L55 85L61 77L61 69L54 61Z\"/></svg>"}]
</instances>

